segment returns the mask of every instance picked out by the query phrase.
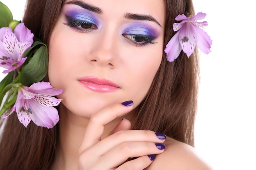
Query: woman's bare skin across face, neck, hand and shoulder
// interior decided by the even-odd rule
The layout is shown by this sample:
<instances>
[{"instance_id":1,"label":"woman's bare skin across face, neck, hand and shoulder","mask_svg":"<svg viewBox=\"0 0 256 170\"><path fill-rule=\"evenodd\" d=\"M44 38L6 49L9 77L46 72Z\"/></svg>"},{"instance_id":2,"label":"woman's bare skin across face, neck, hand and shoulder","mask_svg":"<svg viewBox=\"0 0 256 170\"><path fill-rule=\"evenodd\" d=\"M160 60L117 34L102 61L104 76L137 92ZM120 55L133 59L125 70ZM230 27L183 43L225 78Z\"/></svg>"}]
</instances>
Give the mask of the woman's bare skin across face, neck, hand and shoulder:
<instances>
[{"instance_id":1,"label":"woman's bare skin across face, neck, hand and shoulder","mask_svg":"<svg viewBox=\"0 0 256 170\"><path fill-rule=\"evenodd\" d=\"M130 130L128 119L132 121L134 109L146 96L162 60L164 1L81 0L102 11L89 12L97 27L86 32L67 24L65 15L81 10L67 2L70 0L65 1L49 42L49 80L55 88L63 89L58 96L63 99L60 140L52 170L207 170L192 147L169 137L159 139L149 130ZM81 13L85 16L88 11ZM157 23L127 19L126 13L150 15ZM124 36L127 30L137 32L142 27L150 28L146 33L155 35L156 44L136 46L130 36ZM92 91L79 82L85 76L108 79L119 89ZM128 100L134 104L121 104ZM155 145L162 143L165 150ZM157 155L154 161L147 156L152 154ZM125 162L129 157L138 158ZM181 167L184 161L187 163Z\"/></svg>"}]
</instances>

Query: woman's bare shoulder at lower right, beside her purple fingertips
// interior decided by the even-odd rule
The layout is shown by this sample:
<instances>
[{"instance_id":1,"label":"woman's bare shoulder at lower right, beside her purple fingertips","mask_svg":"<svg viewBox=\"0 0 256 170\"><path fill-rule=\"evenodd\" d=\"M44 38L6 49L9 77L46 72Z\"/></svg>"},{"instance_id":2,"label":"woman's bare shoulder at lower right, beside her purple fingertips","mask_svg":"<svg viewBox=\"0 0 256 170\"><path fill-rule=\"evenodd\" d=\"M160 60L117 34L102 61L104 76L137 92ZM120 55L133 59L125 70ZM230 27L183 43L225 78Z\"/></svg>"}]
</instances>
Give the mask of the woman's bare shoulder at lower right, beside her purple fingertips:
<instances>
[{"instance_id":1,"label":"woman's bare shoulder at lower right, beside her purple fingertips","mask_svg":"<svg viewBox=\"0 0 256 170\"><path fill-rule=\"evenodd\" d=\"M146 170L212 170L192 146L172 138L167 138L164 144L165 151Z\"/></svg>"}]
</instances>

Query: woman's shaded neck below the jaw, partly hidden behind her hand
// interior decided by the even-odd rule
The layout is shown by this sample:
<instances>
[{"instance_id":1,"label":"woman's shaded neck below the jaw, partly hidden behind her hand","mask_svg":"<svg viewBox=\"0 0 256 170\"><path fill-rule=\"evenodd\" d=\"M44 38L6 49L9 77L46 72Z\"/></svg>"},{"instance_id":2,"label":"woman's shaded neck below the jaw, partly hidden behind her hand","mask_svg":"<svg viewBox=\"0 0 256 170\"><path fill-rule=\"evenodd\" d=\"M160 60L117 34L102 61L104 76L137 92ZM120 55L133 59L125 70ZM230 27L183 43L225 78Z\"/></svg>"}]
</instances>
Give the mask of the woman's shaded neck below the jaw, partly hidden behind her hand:
<instances>
[{"instance_id":1,"label":"woman's shaded neck below the jaw, partly hidden behind her hand","mask_svg":"<svg viewBox=\"0 0 256 170\"><path fill-rule=\"evenodd\" d=\"M78 169L78 150L83 141L89 119L75 115L62 104L59 106L59 115L59 140L57 144L56 160L54 161L52 169ZM131 113L125 115L125 117L130 120L132 119ZM123 118L124 117L119 117L106 124L101 139L107 137Z\"/></svg>"}]
</instances>

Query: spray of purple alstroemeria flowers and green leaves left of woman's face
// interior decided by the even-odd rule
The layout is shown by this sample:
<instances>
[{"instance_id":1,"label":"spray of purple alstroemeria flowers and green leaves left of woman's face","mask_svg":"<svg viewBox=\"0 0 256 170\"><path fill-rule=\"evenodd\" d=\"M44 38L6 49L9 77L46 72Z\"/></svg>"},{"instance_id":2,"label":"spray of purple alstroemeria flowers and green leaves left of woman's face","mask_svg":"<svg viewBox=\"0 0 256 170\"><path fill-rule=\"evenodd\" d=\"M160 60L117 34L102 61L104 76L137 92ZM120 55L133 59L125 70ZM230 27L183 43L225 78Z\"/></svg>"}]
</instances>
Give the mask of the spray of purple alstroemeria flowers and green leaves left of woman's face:
<instances>
[{"instance_id":1,"label":"spray of purple alstroemeria flowers and green leaves left of woman's face","mask_svg":"<svg viewBox=\"0 0 256 170\"><path fill-rule=\"evenodd\" d=\"M42 82L48 71L47 45L34 38L23 22L13 20L1 2L0 9L0 66L6 73L0 81L0 116L17 113L25 127L32 120L37 126L52 128L59 121L54 106L61 102L54 96L62 90Z\"/></svg>"}]
</instances>

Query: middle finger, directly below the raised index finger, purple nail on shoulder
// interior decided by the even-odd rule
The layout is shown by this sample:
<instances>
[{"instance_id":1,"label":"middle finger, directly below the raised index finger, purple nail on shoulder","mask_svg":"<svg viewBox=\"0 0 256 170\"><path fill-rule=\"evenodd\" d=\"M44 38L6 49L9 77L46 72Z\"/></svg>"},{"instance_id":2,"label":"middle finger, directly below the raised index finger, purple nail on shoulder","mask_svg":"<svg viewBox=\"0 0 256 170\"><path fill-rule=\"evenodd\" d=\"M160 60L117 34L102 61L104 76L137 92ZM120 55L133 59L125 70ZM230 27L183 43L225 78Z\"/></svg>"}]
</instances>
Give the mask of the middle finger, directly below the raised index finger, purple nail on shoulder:
<instances>
[{"instance_id":1,"label":"middle finger, directly below the raised index finger, purple nail on shoulder","mask_svg":"<svg viewBox=\"0 0 256 170\"><path fill-rule=\"evenodd\" d=\"M91 146L87 150L86 157L89 155L90 157L101 157L112 148L116 148L124 142L164 143L165 137L164 134L155 133L150 130L121 130L99 141L97 145ZM94 152L95 150L97 150L97 152Z\"/></svg>"}]
</instances>

